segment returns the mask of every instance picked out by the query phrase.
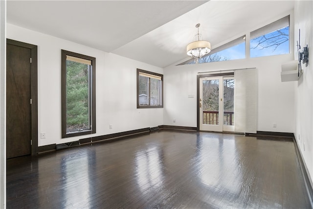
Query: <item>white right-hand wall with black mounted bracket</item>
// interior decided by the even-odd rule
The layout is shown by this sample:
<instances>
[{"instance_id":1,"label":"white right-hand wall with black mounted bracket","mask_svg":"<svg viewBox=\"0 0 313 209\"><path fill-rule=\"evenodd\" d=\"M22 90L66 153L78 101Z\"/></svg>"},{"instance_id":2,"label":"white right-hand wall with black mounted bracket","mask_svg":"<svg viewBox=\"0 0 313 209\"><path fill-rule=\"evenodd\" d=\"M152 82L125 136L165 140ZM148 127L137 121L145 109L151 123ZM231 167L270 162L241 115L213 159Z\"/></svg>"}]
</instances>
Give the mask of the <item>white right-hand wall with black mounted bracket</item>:
<instances>
[{"instance_id":1,"label":"white right-hand wall with black mounted bracket","mask_svg":"<svg viewBox=\"0 0 313 209\"><path fill-rule=\"evenodd\" d=\"M313 179L313 1L295 1L294 23L295 37L299 37L300 46L309 47L308 67L302 64L303 75L295 86L295 138ZM297 38L298 39L298 38ZM302 49L301 49L302 51ZM295 50L294 57L297 58Z\"/></svg>"}]
</instances>

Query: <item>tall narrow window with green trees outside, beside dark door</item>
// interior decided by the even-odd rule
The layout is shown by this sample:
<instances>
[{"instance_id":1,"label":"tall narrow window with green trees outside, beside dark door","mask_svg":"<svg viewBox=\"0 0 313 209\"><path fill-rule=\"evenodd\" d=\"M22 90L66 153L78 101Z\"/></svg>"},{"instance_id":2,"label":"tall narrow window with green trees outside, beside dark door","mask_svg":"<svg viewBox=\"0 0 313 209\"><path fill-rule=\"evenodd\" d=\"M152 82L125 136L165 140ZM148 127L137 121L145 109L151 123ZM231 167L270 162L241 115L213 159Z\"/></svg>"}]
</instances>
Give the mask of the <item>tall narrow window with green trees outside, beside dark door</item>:
<instances>
[{"instance_id":1,"label":"tall narrow window with green trees outside, beside dark door","mask_svg":"<svg viewBox=\"0 0 313 209\"><path fill-rule=\"evenodd\" d=\"M95 133L96 58L62 50L62 138Z\"/></svg>"}]
</instances>

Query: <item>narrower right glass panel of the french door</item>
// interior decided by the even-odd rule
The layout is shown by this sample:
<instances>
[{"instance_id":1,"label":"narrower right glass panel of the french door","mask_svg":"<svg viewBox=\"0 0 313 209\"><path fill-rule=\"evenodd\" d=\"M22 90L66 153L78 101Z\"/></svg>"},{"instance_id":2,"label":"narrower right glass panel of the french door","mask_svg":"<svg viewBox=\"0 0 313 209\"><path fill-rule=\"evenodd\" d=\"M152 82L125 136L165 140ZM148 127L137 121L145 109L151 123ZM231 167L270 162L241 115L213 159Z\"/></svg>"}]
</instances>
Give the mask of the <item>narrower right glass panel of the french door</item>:
<instances>
[{"instance_id":1,"label":"narrower right glass panel of the french door","mask_svg":"<svg viewBox=\"0 0 313 209\"><path fill-rule=\"evenodd\" d=\"M235 125L235 79L224 79L224 125Z\"/></svg>"}]
</instances>

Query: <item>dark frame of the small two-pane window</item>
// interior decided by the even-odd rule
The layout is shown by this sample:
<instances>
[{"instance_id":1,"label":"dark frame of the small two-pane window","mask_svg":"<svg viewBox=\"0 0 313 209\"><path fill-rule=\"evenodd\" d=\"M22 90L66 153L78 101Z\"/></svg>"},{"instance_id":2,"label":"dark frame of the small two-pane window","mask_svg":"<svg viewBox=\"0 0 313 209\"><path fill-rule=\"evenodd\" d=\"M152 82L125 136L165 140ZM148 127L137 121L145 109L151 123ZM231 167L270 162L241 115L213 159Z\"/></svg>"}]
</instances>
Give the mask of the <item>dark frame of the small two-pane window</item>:
<instances>
[{"instance_id":1,"label":"dark frame of the small two-pane window","mask_svg":"<svg viewBox=\"0 0 313 209\"><path fill-rule=\"evenodd\" d=\"M161 85L160 85L160 105L139 105L139 72L145 73L145 74L150 74L152 76L159 76L161 77ZM149 78L149 84L150 84L150 78ZM149 85L149 96L148 96L148 101L150 103L150 85ZM137 69L137 109L141 108L163 108L163 75L156 73L156 72L151 72L147 70L141 70Z\"/></svg>"}]
</instances>

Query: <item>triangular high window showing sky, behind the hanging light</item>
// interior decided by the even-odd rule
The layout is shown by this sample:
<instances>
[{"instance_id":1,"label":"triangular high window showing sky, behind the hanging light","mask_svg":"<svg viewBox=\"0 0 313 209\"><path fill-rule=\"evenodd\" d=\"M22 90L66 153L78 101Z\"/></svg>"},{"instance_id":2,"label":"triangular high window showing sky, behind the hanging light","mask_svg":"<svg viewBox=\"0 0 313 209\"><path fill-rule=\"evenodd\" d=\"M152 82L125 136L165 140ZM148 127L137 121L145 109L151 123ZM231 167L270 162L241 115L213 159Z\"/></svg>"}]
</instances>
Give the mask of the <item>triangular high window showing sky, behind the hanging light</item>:
<instances>
[{"instance_id":1,"label":"triangular high window showing sky, behind the hanging light","mask_svg":"<svg viewBox=\"0 0 313 209\"><path fill-rule=\"evenodd\" d=\"M246 58L246 36L239 37L227 44L211 50L211 52L199 59L199 63L220 62ZM194 58L180 65L196 64Z\"/></svg>"}]
</instances>

